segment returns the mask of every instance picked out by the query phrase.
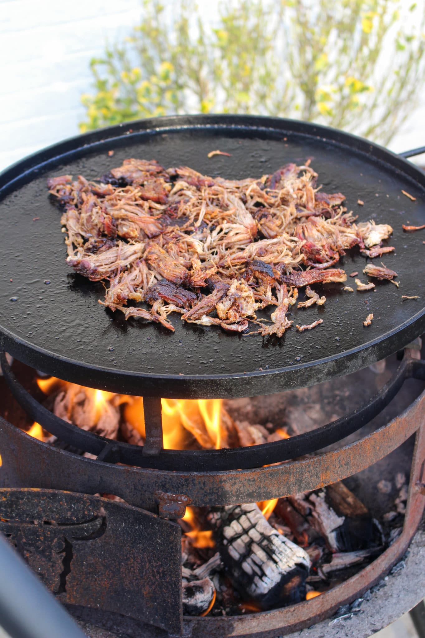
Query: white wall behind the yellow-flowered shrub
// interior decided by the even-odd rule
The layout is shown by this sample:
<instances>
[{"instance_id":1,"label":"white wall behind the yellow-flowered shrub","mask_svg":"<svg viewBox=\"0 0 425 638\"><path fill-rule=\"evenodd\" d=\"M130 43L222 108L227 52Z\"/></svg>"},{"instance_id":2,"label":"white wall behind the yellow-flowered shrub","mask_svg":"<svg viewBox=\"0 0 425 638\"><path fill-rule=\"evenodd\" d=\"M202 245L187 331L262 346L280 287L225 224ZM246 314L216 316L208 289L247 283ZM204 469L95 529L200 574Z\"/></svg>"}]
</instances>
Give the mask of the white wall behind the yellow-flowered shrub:
<instances>
[{"instance_id":1,"label":"white wall behind the yellow-flowered shrub","mask_svg":"<svg viewBox=\"0 0 425 638\"><path fill-rule=\"evenodd\" d=\"M172 10L173 0L165 0ZM206 19L217 0L199 0ZM0 0L0 170L78 133L91 57L121 40L141 15L141 0ZM391 143L425 144L425 101Z\"/></svg>"}]
</instances>

